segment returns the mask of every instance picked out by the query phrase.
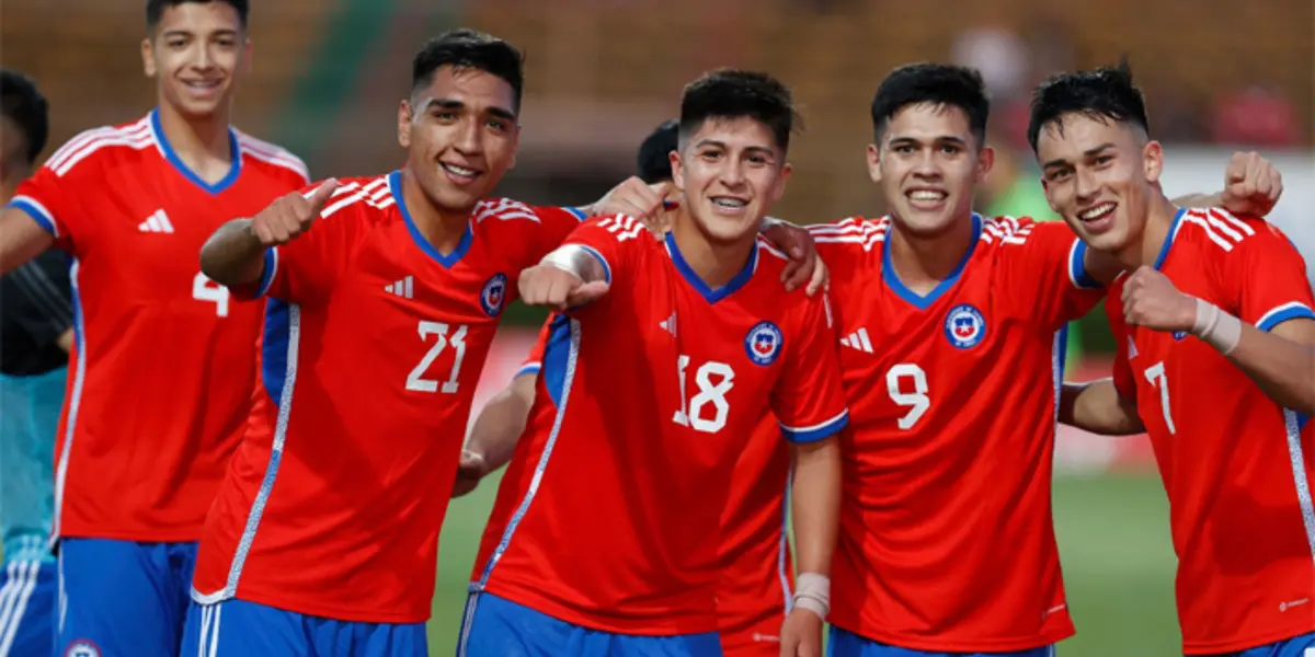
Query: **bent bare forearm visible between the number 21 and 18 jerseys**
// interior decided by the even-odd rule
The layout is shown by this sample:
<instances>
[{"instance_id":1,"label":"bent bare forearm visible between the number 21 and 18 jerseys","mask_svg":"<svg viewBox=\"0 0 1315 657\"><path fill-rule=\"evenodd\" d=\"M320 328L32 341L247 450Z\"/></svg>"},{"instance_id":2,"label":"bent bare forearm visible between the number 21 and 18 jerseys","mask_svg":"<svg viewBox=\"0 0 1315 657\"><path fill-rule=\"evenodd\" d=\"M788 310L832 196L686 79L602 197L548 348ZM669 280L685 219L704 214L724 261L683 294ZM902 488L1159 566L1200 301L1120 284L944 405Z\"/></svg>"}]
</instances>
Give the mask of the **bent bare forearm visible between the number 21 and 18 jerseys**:
<instances>
[{"instance_id":1,"label":"bent bare forearm visible between the number 21 and 18 jerseys","mask_svg":"<svg viewBox=\"0 0 1315 657\"><path fill-rule=\"evenodd\" d=\"M530 409L534 406L535 376L534 372L517 374L475 418L471 438L462 452L460 466L456 470L452 497L462 497L475 490L480 480L512 460L515 443L521 439Z\"/></svg>"}]
</instances>

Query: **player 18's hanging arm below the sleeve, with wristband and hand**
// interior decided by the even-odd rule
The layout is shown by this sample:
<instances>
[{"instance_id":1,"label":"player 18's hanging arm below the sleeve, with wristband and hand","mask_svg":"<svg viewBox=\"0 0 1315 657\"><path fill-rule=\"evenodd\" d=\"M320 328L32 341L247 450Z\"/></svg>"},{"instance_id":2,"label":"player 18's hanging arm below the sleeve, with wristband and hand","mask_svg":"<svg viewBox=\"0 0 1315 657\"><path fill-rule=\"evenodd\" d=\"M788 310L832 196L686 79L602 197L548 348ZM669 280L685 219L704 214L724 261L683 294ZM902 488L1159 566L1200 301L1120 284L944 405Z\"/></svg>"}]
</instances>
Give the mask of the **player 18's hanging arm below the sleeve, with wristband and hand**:
<instances>
[{"instance_id":1,"label":"player 18's hanging arm below the sleeve, with wristband and hand","mask_svg":"<svg viewBox=\"0 0 1315 657\"><path fill-rule=\"evenodd\" d=\"M794 610L781 628L781 654L821 656L822 620L831 606L831 555L840 526L840 440L792 443L794 547L798 582Z\"/></svg>"}]
</instances>

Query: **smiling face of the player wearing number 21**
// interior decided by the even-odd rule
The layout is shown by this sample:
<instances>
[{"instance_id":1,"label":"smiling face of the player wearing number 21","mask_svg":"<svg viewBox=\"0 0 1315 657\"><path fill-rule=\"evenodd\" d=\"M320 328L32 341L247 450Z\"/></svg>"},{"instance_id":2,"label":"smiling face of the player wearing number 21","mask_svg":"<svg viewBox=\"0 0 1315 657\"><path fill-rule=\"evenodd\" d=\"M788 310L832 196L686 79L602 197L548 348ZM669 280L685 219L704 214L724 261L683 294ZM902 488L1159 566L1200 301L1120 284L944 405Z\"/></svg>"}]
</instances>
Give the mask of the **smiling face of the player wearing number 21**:
<instances>
[{"instance_id":1,"label":"smiling face of the player wearing number 21","mask_svg":"<svg viewBox=\"0 0 1315 657\"><path fill-rule=\"evenodd\" d=\"M515 164L519 126L512 85L477 68L438 68L397 112L397 143L425 194L468 212Z\"/></svg>"}]
</instances>

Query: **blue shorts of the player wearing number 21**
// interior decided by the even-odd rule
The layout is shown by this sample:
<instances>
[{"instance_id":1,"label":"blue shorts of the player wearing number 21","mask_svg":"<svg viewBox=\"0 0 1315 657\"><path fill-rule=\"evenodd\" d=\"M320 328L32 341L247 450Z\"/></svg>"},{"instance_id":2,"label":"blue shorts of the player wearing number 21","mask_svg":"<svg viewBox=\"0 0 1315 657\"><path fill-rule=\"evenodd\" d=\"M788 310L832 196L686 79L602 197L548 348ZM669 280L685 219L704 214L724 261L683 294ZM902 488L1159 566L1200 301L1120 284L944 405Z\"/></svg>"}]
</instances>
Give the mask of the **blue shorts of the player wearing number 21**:
<instances>
[{"instance_id":1,"label":"blue shorts of the player wearing number 21","mask_svg":"<svg viewBox=\"0 0 1315 657\"><path fill-rule=\"evenodd\" d=\"M208 657L426 657L423 623L358 623L246 600L193 602L183 654Z\"/></svg>"}]
</instances>

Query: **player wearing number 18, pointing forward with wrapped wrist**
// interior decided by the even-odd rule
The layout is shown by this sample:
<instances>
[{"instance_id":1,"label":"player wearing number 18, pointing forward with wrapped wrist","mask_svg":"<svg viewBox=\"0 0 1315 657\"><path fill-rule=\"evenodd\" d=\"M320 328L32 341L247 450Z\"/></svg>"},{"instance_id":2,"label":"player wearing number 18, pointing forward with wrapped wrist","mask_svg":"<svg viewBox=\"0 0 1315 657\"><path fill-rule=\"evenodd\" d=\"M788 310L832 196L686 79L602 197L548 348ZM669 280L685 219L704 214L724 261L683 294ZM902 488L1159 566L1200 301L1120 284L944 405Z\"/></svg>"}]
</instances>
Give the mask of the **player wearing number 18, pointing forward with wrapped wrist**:
<instances>
[{"instance_id":1,"label":"player wearing number 18, pointing forward with wrapped wrist","mask_svg":"<svg viewBox=\"0 0 1315 657\"><path fill-rule=\"evenodd\" d=\"M794 445L800 591L780 654L819 654L847 411L826 296L781 293L757 240L794 109L763 74L717 71L681 100L682 191L663 242L611 215L521 277L562 310L530 427L484 532L459 654L721 654L721 516L753 440ZM580 306L579 301L592 300ZM776 435L753 436L768 411ZM753 447L751 447L753 445Z\"/></svg>"}]
</instances>

